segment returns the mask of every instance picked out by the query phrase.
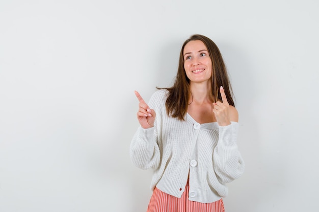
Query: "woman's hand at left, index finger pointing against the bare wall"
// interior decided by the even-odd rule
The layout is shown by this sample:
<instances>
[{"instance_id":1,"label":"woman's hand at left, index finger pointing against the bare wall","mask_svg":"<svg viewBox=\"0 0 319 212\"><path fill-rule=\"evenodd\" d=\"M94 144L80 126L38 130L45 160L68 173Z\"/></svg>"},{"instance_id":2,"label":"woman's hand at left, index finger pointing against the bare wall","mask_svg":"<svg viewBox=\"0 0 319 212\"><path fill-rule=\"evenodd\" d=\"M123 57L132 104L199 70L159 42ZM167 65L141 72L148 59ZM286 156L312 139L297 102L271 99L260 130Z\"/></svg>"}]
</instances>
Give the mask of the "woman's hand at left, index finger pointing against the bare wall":
<instances>
[{"instance_id":1,"label":"woman's hand at left, index finger pointing against the bare wall","mask_svg":"<svg viewBox=\"0 0 319 212\"><path fill-rule=\"evenodd\" d=\"M139 111L137 113L139 123L142 128L147 129L154 126L156 113L145 103L141 95L135 91L135 95L139 100Z\"/></svg>"}]
</instances>

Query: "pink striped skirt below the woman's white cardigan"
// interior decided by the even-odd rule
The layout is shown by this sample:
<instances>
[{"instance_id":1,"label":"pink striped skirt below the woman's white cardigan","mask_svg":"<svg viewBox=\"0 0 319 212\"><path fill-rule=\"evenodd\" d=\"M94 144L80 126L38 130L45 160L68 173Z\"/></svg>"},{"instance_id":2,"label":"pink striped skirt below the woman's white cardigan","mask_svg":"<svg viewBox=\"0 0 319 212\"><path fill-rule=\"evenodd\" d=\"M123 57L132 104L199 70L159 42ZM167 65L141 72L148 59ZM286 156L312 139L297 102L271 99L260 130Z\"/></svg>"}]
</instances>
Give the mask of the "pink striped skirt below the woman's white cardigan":
<instances>
[{"instance_id":1,"label":"pink striped skirt below the woman's white cardigan","mask_svg":"<svg viewBox=\"0 0 319 212\"><path fill-rule=\"evenodd\" d=\"M147 212L224 212L223 199L211 203L189 200L190 185L187 182L181 198L166 194L155 187Z\"/></svg>"}]
</instances>

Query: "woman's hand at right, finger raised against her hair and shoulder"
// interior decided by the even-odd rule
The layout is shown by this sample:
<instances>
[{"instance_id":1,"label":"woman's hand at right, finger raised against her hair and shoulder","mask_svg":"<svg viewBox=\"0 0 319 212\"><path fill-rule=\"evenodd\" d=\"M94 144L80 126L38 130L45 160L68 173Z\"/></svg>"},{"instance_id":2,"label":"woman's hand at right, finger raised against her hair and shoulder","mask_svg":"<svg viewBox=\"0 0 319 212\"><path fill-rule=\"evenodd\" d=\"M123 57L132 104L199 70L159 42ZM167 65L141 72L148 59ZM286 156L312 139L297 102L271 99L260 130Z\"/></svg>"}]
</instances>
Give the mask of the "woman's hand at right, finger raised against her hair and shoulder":
<instances>
[{"instance_id":1,"label":"woman's hand at right, finger raised against her hair and shoulder","mask_svg":"<svg viewBox=\"0 0 319 212\"><path fill-rule=\"evenodd\" d=\"M220 92L222 96L222 102L212 103L215 117L219 126L228 126L230 125L230 115L229 115L229 104L225 95L223 86L220 87Z\"/></svg>"}]
</instances>

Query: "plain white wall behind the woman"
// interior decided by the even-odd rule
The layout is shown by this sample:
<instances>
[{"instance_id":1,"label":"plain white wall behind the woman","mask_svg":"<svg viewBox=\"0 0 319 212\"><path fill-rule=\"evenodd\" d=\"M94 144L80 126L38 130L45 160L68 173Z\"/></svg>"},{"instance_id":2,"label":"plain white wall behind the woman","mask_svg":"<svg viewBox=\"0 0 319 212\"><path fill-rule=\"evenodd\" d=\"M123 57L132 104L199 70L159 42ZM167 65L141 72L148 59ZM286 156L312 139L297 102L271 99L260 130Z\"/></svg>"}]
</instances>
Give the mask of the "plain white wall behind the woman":
<instances>
[{"instance_id":1,"label":"plain white wall behind the woman","mask_svg":"<svg viewBox=\"0 0 319 212\"><path fill-rule=\"evenodd\" d=\"M138 90L170 86L192 34L216 42L244 175L226 211L317 211L319 3L1 1L0 211L146 211L130 162Z\"/></svg>"}]
</instances>

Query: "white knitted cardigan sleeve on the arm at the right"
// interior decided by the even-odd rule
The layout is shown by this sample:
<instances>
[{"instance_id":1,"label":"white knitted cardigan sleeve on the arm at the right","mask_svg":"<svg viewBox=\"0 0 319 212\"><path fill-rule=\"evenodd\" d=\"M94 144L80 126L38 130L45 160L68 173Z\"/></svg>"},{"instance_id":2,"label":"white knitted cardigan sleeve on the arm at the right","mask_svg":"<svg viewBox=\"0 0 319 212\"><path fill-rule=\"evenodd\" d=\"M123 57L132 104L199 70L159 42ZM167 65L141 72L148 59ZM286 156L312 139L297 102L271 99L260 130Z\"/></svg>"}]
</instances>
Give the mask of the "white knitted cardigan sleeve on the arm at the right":
<instances>
[{"instance_id":1,"label":"white knitted cardigan sleeve on the arm at the right","mask_svg":"<svg viewBox=\"0 0 319 212\"><path fill-rule=\"evenodd\" d=\"M236 144L237 133L237 122L219 127L219 139L214 149L213 163L221 184L229 183L244 173L245 163Z\"/></svg>"}]
</instances>

